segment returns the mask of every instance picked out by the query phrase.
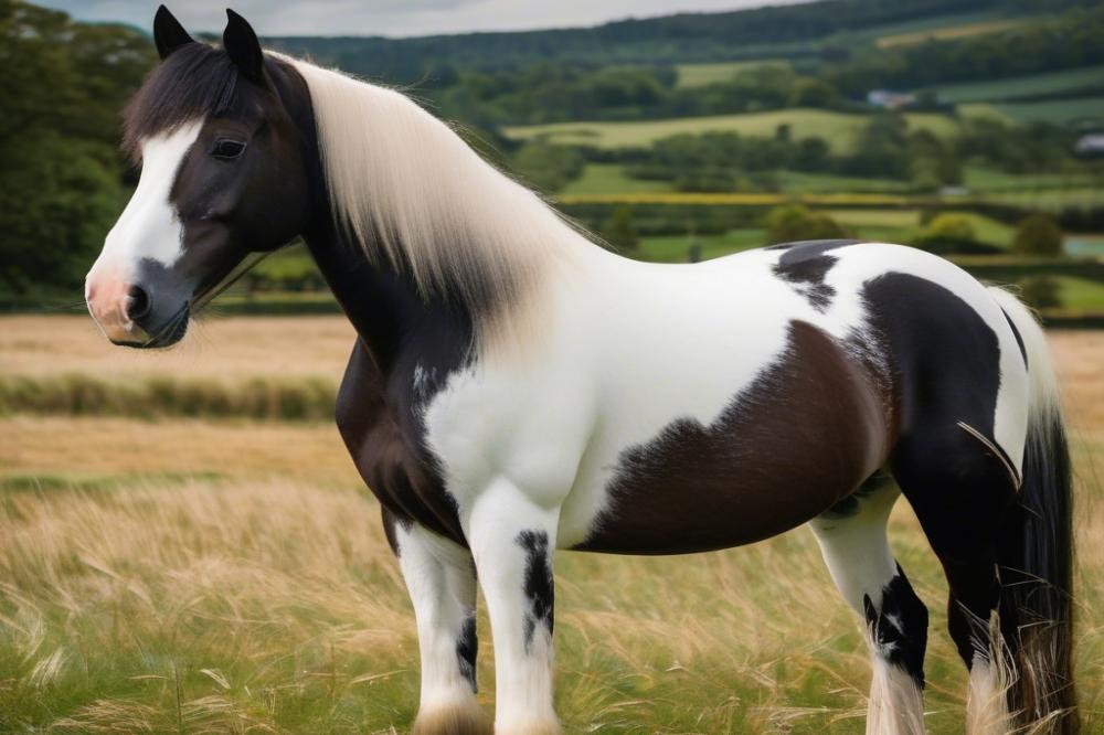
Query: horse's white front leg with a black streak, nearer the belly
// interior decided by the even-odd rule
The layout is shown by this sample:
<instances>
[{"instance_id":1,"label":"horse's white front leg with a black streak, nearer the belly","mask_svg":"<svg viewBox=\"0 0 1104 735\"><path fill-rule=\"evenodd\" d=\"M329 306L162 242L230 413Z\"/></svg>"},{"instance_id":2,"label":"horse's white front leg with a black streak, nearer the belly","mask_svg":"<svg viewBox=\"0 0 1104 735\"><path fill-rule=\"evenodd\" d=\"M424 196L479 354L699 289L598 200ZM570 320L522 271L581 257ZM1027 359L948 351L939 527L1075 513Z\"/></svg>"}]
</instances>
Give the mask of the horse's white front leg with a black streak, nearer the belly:
<instances>
[{"instance_id":1,"label":"horse's white front leg with a black streak, nearer the belly","mask_svg":"<svg viewBox=\"0 0 1104 735\"><path fill-rule=\"evenodd\" d=\"M559 508L498 480L475 500L468 542L495 636L496 735L552 735L552 555Z\"/></svg>"}]
</instances>

